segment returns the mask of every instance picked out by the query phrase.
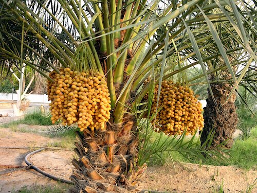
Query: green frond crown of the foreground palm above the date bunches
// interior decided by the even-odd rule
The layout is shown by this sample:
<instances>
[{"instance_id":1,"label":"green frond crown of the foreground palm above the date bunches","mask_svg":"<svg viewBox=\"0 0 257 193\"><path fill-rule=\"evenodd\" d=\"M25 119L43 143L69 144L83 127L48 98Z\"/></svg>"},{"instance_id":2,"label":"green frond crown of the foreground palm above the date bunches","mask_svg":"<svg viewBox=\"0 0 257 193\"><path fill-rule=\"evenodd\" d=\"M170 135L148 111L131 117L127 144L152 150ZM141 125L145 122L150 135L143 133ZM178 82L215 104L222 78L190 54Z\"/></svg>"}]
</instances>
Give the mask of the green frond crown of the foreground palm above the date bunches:
<instances>
[{"instance_id":1,"label":"green frond crown of the foreground palm above the date bunches","mask_svg":"<svg viewBox=\"0 0 257 193\"><path fill-rule=\"evenodd\" d=\"M230 83L237 86L242 78L237 69L247 73L251 66L240 62L247 63L251 57L256 61L256 5L244 1L132 0L115 6L114 1L105 0L16 0L8 4L1 0L0 5L2 57L10 62L22 60L22 25L24 56L30 58L27 65L45 75L59 66L76 65L72 58L81 41L87 42L98 71L107 76L113 108L124 104L129 91L139 92L152 64L155 83L201 64L207 85L210 74L224 80L230 74ZM176 58L172 66L166 62L169 57ZM181 62L185 66L171 72ZM252 79L246 80L253 85ZM125 85L117 97L114 83ZM142 96L149 86L144 85ZM118 113L121 109L115 110L116 121L123 116Z\"/></svg>"}]
</instances>

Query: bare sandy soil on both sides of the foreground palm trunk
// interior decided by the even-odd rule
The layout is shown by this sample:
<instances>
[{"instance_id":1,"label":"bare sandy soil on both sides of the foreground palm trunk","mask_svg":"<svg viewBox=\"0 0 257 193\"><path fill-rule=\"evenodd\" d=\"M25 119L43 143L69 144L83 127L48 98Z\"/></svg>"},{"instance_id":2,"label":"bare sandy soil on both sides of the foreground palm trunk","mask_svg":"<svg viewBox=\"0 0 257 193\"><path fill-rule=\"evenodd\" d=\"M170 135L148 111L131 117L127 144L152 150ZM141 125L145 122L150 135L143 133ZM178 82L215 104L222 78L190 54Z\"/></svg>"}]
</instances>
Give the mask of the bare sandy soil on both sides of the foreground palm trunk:
<instances>
[{"instance_id":1,"label":"bare sandy soil on both sides of the foreground palm trunk","mask_svg":"<svg viewBox=\"0 0 257 193\"><path fill-rule=\"evenodd\" d=\"M7 119L0 119L0 122L4 121ZM32 131L42 131L45 127L26 127L26 129L29 128ZM59 140L61 139L47 137L42 132L12 131L2 126L0 128L0 192L12 192L23 186L60 185L32 169L17 168L26 166L24 157L33 150L33 147L47 147ZM31 149L7 149L7 147ZM29 161L54 176L69 180L74 169L71 164L74 156L72 151L48 149L32 155ZM139 182L139 189L161 192L217 192L223 184L224 192L246 192L247 187L254 183L256 177L255 170L243 170L235 166L175 163L175 168L172 164L149 167L145 177ZM257 190L253 189L251 192L257 192Z\"/></svg>"}]
</instances>

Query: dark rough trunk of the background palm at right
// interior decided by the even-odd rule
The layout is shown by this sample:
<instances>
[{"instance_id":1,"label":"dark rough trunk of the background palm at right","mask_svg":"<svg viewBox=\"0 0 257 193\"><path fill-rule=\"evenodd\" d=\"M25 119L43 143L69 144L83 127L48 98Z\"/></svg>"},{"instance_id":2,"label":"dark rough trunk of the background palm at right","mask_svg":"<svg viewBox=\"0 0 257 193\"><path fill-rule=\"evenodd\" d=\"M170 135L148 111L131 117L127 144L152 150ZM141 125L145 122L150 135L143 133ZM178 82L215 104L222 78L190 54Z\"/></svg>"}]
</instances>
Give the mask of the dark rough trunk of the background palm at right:
<instances>
[{"instance_id":1,"label":"dark rough trunk of the background palm at right","mask_svg":"<svg viewBox=\"0 0 257 193\"><path fill-rule=\"evenodd\" d=\"M225 147L231 148L233 133L235 132L238 120L234 104L236 93L233 93L226 102L231 90L229 84L212 84L211 89L217 105L214 103L208 90L207 106L204 108L205 127L200 138L201 144L205 143L210 132L214 132L211 147L217 147L219 144L227 141Z\"/></svg>"}]
</instances>

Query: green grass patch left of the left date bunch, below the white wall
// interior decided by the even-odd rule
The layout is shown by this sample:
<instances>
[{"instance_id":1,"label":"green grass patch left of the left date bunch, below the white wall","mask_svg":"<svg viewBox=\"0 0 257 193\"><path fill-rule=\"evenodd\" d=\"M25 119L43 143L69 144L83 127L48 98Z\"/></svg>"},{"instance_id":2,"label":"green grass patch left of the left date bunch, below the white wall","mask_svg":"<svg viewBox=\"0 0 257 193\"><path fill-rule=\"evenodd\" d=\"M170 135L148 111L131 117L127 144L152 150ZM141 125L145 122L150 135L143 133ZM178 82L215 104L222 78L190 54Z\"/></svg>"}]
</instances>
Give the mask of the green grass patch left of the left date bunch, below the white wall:
<instances>
[{"instance_id":1,"label":"green grass patch left of the left date bunch, below the white wall","mask_svg":"<svg viewBox=\"0 0 257 193\"><path fill-rule=\"evenodd\" d=\"M40 126L49 126L52 125L52 122L49 117L42 116L40 111L35 111L32 113L25 114L25 116L20 120L15 120L9 122L9 124L3 125L3 127L14 127L19 124L26 124L26 125L40 125Z\"/></svg>"}]
</instances>

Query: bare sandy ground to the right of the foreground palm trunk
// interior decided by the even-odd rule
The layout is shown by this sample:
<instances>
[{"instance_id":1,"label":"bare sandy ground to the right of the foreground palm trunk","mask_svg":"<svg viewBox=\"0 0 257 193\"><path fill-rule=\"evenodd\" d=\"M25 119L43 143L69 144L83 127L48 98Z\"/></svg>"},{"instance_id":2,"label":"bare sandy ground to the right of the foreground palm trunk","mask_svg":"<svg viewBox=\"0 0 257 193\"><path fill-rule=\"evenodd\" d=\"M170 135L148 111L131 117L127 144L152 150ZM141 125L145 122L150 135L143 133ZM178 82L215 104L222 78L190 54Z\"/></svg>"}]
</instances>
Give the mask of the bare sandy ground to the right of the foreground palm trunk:
<instances>
[{"instance_id":1,"label":"bare sandy ground to the right of the foreground palm trunk","mask_svg":"<svg viewBox=\"0 0 257 193\"><path fill-rule=\"evenodd\" d=\"M205 166L175 163L148 168L145 178L139 183L143 189L165 192L246 192L254 183L257 172L234 166ZM256 187L255 187L256 188ZM257 192L257 189L251 191Z\"/></svg>"}]
</instances>

